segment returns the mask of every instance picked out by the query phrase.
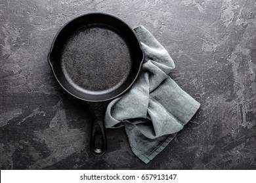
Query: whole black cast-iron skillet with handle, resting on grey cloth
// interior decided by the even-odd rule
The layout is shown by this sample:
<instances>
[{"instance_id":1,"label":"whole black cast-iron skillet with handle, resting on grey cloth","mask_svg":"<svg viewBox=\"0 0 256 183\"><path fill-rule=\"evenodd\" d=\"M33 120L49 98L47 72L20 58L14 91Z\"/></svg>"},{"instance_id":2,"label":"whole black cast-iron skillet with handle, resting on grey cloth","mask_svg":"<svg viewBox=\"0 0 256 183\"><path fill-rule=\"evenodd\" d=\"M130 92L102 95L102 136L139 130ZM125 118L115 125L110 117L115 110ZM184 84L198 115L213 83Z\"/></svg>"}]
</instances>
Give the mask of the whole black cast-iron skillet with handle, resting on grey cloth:
<instances>
[{"instance_id":1,"label":"whole black cast-iron skillet with handle, resting on grey cloth","mask_svg":"<svg viewBox=\"0 0 256 183\"><path fill-rule=\"evenodd\" d=\"M135 31L105 13L79 16L56 34L48 62L66 92L85 101L94 116L91 152L106 152L104 113L135 82L144 59Z\"/></svg>"}]
</instances>

